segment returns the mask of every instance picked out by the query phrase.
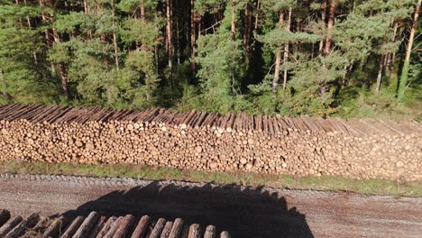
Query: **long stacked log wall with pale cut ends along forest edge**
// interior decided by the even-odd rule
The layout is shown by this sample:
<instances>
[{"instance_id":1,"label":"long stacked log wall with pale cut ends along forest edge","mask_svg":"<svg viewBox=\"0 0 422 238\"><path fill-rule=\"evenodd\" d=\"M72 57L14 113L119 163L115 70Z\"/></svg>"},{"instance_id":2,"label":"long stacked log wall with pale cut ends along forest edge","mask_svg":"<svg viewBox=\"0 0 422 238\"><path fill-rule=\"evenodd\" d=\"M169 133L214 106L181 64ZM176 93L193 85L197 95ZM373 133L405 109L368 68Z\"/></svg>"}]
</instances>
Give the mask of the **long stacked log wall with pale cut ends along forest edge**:
<instances>
[{"instance_id":1,"label":"long stacked log wall with pale cut ends along forest edge","mask_svg":"<svg viewBox=\"0 0 422 238\"><path fill-rule=\"evenodd\" d=\"M0 160L420 180L421 135L417 122L0 106Z\"/></svg>"}]
</instances>

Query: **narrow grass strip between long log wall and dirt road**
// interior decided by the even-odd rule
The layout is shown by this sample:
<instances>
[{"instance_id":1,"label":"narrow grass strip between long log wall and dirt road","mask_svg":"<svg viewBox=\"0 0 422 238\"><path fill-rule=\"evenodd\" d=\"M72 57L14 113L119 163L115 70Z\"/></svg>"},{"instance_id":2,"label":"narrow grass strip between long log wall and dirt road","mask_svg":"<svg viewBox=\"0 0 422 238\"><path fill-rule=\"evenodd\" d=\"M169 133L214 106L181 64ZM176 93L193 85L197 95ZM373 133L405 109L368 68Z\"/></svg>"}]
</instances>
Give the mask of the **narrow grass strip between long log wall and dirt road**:
<instances>
[{"instance_id":1,"label":"narrow grass strip between long log wall and dirt road","mask_svg":"<svg viewBox=\"0 0 422 238\"><path fill-rule=\"evenodd\" d=\"M346 191L364 195L422 197L422 181L399 182L386 179L353 179L338 176L293 177L247 172L203 172L186 169L158 168L130 164L77 164L0 161L0 173L76 175L89 177L142 178L214 182L252 187Z\"/></svg>"}]
</instances>

